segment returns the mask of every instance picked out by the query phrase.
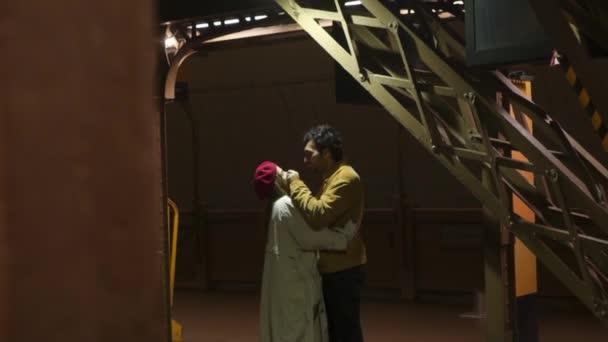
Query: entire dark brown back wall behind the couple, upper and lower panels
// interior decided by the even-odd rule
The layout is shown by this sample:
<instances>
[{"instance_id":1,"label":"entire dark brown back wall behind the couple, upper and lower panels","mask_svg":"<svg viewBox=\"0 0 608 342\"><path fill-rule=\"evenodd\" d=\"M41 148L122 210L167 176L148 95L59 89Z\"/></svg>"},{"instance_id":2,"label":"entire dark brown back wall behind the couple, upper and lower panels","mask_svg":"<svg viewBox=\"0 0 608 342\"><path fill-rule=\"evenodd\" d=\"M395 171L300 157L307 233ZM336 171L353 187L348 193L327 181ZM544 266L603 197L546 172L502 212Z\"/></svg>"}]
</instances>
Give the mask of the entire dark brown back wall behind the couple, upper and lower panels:
<instances>
[{"instance_id":1,"label":"entire dark brown back wall behind the couple, upper and lower panels","mask_svg":"<svg viewBox=\"0 0 608 342\"><path fill-rule=\"evenodd\" d=\"M262 204L249 183L253 170L262 160L275 160L316 184L302 165L301 136L311 125L329 122L343 132L346 155L365 184L368 285L422 292L481 288L477 200L384 109L336 103L334 77L326 53L297 37L227 43L184 64L180 78L189 84L200 121L206 221L204 255L192 252L192 245L182 249L183 279L196 278L192 267L198 266L189 263L202 258L212 283L259 280L266 236ZM170 194L189 212L193 158L182 108L172 105L168 122ZM565 293L544 269L540 274L541 292Z\"/></svg>"}]
</instances>

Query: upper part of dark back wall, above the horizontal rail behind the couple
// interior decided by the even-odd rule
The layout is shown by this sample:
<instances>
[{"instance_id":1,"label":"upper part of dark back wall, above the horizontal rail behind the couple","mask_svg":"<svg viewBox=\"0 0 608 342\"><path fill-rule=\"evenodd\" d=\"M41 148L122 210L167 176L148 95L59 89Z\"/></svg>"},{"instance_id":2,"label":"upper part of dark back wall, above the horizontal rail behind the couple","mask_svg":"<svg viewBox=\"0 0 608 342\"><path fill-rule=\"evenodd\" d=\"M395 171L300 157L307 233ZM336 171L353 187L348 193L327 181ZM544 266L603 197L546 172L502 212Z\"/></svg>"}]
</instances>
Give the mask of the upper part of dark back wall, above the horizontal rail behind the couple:
<instances>
[{"instance_id":1,"label":"upper part of dark back wall, above the horizontal rail behind the couple","mask_svg":"<svg viewBox=\"0 0 608 342\"><path fill-rule=\"evenodd\" d=\"M212 208L257 208L249 181L266 159L314 176L302 163L302 135L328 122L344 136L368 207L391 207L403 182L418 207L476 207L468 194L383 108L339 104L334 64L308 39L252 44L193 57L182 67L200 121L201 193ZM191 207L188 122L178 105L169 120L170 192ZM398 161L401 159L401 174Z\"/></svg>"}]
</instances>

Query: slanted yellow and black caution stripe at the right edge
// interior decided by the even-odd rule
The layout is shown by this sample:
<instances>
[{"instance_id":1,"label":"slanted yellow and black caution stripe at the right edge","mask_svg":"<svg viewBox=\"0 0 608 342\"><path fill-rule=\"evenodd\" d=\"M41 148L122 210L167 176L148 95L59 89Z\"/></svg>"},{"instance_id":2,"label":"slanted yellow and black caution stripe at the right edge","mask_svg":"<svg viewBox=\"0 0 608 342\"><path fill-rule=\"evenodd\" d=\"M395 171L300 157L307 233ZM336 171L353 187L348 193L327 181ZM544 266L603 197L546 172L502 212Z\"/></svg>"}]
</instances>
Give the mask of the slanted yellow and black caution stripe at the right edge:
<instances>
[{"instance_id":1,"label":"slanted yellow and black caution stripe at the right edge","mask_svg":"<svg viewBox=\"0 0 608 342\"><path fill-rule=\"evenodd\" d=\"M591 119L591 124L602 142L602 147L605 151L608 151L608 125L606 125L606 122L602 120L602 116L597 111L593 101L591 101L589 92L576 77L574 68L570 65L570 63L568 63L565 56L557 55L557 52L554 53L551 64L559 64L566 73L568 84L570 84L572 89L574 89L576 92L579 103L581 106L583 106L583 109L585 110L585 113L587 113L587 116L589 116L589 119Z\"/></svg>"}]
</instances>

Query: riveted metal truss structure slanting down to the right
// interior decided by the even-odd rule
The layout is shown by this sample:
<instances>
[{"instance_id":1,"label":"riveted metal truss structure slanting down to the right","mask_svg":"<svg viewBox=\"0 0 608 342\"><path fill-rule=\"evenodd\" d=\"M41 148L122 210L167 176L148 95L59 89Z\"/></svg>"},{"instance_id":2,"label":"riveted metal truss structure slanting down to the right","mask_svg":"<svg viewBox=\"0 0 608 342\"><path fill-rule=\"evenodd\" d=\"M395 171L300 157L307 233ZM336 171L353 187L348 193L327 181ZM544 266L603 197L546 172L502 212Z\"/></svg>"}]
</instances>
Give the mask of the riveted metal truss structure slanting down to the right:
<instances>
[{"instance_id":1,"label":"riveted metal truss structure slanting down to the right","mask_svg":"<svg viewBox=\"0 0 608 342\"><path fill-rule=\"evenodd\" d=\"M280 8L265 10L267 23L291 17L358 80L500 224L492 232L498 249L516 236L608 322L608 170L505 75L466 66L463 38L442 20L463 21L463 1L410 1L401 11L378 0L354 6L338 0L275 1ZM530 1L537 11L543 1L579 9L572 7L574 0ZM603 27L601 21L586 21L584 14L572 16L603 46L606 37L593 29ZM228 17L167 26L181 32L184 44L169 59L165 99L175 98L177 68L197 46L259 26L251 20L255 15L235 17L242 25L232 28L225 25ZM322 24L328 21L332 30ZM197 27L216 33L199 35ZM535 214L534 221L514 212L514 196Z\"/></svg>"}]
</instances>

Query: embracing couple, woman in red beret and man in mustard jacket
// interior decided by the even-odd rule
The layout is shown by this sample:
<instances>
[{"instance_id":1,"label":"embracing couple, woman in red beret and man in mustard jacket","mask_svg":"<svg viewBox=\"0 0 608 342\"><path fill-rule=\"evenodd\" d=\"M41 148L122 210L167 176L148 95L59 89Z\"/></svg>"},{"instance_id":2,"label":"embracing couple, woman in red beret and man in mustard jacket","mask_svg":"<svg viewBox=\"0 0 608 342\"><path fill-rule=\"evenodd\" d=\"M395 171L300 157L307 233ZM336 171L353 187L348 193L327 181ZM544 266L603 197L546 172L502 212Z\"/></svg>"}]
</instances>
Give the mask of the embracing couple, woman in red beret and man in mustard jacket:
<instances>
[{"instance_id":1,"label":"embracing couple, woman in red beret and man in mustard jacket","mask_svg":"<svg viewBox=\"0 0 608 342\"><path fill-rule=\"evenodd\" d=\"M304 163L323 177L315 193L297 171L273 162L261 163L253 179L268 201L261 342L362 342L363 185L329 125L304 135Z\"/></svg>"}]
</instances>

